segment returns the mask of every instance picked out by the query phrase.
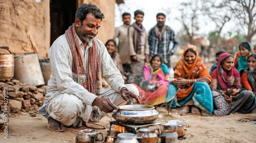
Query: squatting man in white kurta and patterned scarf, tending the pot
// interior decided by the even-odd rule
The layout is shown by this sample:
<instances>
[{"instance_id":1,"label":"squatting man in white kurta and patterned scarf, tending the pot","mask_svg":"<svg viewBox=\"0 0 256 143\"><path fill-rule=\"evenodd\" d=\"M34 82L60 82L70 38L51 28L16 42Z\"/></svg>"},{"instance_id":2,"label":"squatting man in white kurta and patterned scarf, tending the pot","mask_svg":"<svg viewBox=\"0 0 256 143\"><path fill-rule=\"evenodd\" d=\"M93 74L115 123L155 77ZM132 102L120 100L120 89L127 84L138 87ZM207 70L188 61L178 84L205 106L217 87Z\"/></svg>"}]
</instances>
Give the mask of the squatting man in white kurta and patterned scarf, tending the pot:
<instances>
[{"instance_id":1,"label":"squatting man in white kurta and patterned scarf, tending the pot","mask_svg":"<svg viewBox=\"0 0 256 143\"><path fill-rule=\"evenodd\" d=\"M140 103L138 89L124 84L106 47L95 38L102 18L104 14L95 5L83 4L76 11L75 23L49 50L52 74L47 101L39 112L48 118L50 130L65 131L69 126L97 121L102 111L112 112L117 106L127 104L129 98ZM101 76L109 88L102 89ZM93 107L99 109L96 118Z\"/></svg>"}]
</instances>

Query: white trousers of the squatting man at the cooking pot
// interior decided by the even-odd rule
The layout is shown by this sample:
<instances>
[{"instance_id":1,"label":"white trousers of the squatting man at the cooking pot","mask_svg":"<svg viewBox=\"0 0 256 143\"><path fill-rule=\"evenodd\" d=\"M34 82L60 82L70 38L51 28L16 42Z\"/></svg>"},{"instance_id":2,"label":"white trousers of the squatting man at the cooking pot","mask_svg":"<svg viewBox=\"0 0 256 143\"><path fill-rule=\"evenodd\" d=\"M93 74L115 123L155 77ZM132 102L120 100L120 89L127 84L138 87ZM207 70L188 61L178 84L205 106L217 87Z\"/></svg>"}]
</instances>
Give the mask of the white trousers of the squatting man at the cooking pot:
<instances>
[{"instance_id":1,"label":"white trousers of the squatting man at the cooking pot","mask_svg":"<svg viewBox=\"0 0 256 143\"><path fill-rule=\"evenodd\" d=\"M132 84L125 84L129 91L134 92L139 96L139 90ZM101 98L109 98L116 105L125 105L121 94L111 87L102 89L100 92ZM82 122L88 122L92 106L83 105L82 101L73 94L59 94L51 99L46 108L47 114L58 122L66 126L79 127ZM99 111L99 118L103 117L103 113Z\"/></svg>"}]
</instances>

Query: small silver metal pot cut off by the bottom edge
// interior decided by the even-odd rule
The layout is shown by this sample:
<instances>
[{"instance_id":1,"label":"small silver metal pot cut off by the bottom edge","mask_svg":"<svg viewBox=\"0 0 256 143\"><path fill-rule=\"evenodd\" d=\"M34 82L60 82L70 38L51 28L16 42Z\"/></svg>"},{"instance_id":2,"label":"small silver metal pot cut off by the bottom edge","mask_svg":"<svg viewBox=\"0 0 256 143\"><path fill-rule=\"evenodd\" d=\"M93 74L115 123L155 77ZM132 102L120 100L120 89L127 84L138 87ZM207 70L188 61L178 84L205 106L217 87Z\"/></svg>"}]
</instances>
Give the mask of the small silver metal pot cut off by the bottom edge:
<instances>
[{"instance_id":1,"label":"small silver metal pot cut off by the bottom edge","mask_svg":"<svg viewBox=\"0 0 256 143\"><path fill-rule=\"evenodd\" d=\"M117 143L139 143L137 135L133 133L119 133Z\"/></svg>"}]
</instances>

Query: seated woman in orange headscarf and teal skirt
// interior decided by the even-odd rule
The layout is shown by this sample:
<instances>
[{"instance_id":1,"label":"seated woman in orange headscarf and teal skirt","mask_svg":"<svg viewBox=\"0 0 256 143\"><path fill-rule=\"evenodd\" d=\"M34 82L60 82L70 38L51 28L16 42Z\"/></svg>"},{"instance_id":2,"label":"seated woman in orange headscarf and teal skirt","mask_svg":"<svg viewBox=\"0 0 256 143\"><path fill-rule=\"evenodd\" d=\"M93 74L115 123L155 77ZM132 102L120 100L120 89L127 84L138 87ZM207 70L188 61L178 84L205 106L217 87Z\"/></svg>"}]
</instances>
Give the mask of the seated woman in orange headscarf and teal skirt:
<instances>
[{"instance_id":1,"label":"seated woman in orange headscarf and teal skirt","mask_svg":"<svg viewBox=\"0 0 256 143\"><path fill-rule=\"evenodd\" d=\"M186 46L174 72L174 78L177 80L170 83L168 87L169 91L165 101L167 105L172 108L181 106L181 115L189 112L189 106L191 113L200 114L198 109L200 108L202 116L212 115L214 106L209 86L211 77L202 59L198 56L196 46ZM173 104L170 105L170 103Z\"/></svg>"}]
</instances>

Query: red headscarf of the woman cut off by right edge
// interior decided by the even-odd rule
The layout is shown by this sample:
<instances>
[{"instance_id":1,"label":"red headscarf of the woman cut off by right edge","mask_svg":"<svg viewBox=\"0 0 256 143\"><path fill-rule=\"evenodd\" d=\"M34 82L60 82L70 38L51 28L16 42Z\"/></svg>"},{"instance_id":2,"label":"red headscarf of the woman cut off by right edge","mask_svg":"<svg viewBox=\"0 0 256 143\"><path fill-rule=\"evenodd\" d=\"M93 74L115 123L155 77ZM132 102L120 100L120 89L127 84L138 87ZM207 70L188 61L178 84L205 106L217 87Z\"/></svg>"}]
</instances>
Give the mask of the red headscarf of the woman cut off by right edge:
<instances>
[{"instance_id":1,"label":"red headscarf of the woman cut off by right edge","mask_svg":"<svg viewBox=\"0 0 256 143\"><path fill-rule=\"evenodd\" d=\"M249 57L253 57L256 59L256 54L252 54ZM247 68L246 73L247 73L248 82L252 88L252 91L254 91L255 93L256 92L256 69L250 70L249 68Z\"/></svg>"}]
</instances>

